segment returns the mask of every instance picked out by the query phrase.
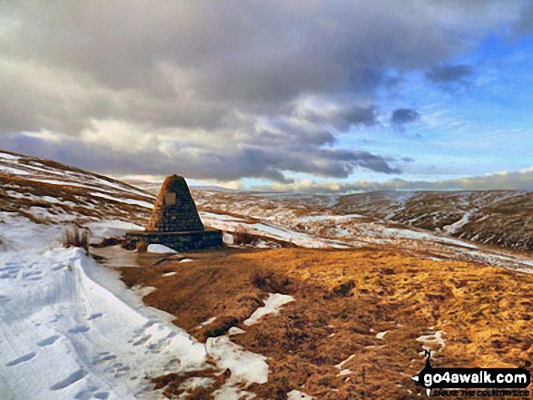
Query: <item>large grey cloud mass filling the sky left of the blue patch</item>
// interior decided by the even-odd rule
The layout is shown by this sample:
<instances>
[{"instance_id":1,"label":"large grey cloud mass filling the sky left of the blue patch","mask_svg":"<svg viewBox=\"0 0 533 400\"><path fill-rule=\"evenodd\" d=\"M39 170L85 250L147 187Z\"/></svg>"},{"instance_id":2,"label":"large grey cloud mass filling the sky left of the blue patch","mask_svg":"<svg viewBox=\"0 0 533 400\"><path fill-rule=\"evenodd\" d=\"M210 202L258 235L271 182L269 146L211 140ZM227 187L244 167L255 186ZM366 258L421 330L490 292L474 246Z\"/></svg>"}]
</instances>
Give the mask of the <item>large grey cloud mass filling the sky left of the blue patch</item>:
<instances>
[{"instance_id":1,"label":"large grey cloud mass filling the sky left of the blue patch","mask_svg":"<svg viewBox=\"0 0 533 400\"><path fill-rule=\"evenodd\" d=\"M376 123L390 70L446 64L518 15L515 2L498 13L494 2L461 3L458 12L416 0L0 2L0 137L101 172L166 174L179 164L198 178L280 181L283 171L400 173L386 155L336 148L335 135ZM429 79L468 79L457 67ZM299 113L307 98L315 107ZM97 122L177 150L80 139ZM16 135L41 131L62 143Z\"/></svg>"}]
</instances>

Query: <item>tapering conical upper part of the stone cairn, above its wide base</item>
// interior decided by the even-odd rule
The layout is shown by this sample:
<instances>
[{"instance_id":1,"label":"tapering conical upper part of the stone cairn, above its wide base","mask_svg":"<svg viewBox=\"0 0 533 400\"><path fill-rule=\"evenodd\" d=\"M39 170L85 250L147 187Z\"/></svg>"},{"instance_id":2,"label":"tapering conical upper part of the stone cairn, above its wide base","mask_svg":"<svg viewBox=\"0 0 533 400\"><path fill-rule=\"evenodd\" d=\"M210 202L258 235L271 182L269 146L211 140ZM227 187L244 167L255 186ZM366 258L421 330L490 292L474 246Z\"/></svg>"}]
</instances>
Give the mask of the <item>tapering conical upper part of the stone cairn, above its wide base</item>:
<instances>
[{"instance_id":1,"label":"tapering conical upper part of the stone cairn, above its wide base","mask_svg":"<svg viewBox=\"0 0 533 400\"><path fill-rule=\"evenodd\" d=\"M153 205L152 217L146 225L151 232L184 232L203 230L202 220L196 210L187 182L172 175L163 182Z\"/></svg>"}]
</instances>

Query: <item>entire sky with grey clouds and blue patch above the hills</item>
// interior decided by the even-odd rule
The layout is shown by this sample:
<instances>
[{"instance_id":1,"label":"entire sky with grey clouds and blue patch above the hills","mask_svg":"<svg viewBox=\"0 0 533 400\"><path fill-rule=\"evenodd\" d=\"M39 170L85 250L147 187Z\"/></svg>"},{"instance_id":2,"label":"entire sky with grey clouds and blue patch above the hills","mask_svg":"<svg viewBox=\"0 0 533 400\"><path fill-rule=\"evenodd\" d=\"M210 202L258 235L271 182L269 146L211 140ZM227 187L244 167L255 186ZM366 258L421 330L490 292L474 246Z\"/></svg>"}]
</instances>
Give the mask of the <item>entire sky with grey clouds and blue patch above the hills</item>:
<instances>
[{"instance_id":1,"label":"entire sky with grey clouds and blue patch above the hills","mask_svg":"<svg viewBox=\"0 0 533 400\"><path fill-rule=\"evenodd\" d=\"M0 1L0 148L282 190L533 189L533 2Z\"/></svg>"}]
</instances>

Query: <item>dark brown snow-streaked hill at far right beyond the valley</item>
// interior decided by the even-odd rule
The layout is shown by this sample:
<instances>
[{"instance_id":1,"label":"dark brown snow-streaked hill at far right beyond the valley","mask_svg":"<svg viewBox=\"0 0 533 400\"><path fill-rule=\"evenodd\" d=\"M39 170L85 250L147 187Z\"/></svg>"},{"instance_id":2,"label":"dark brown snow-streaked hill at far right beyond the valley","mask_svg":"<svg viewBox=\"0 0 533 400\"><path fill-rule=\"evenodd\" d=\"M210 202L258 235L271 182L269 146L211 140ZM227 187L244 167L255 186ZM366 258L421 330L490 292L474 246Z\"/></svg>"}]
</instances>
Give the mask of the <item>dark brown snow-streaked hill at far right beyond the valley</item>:
<instances>
[{"instance_id":1,"label":"dark brown snow-streaked hill at far right beyond the valley","mask_svg":"<svg viewBox=\"0 0 533 400\"><path fill-rule=\"evenodd\" d=\"M342 196L340 213L360 213L510 249L533 250L533 192L371 192Z\"/></svg>"}]
</instances>

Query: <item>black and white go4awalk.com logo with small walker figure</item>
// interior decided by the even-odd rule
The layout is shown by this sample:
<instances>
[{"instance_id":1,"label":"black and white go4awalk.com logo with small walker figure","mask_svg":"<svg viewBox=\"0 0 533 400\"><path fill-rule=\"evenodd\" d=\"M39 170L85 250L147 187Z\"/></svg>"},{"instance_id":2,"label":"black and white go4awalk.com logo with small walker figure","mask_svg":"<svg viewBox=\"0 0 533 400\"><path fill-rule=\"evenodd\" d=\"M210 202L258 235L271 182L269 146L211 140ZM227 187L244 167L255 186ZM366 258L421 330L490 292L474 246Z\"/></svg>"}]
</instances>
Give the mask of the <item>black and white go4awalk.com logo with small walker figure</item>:
<instances>
[{"instance_id":1,"label":"black and white go4awalk.com logo with small walker figure","mask_svg":"<svg viewBox=\"0 0 533 400\"><path fill-rule=\"evenodd\" d=\"M529 398L526 388L531 376L526 368L434 368L430 352L425 354L426 366L411 379L424 386L428 395Z\"/></svg>"}]
</instances>

